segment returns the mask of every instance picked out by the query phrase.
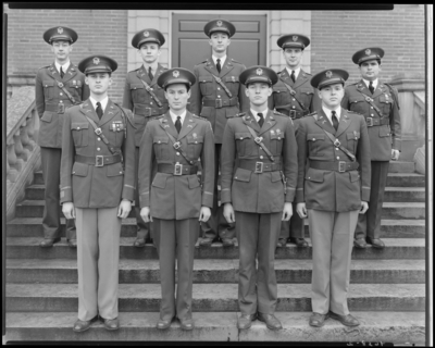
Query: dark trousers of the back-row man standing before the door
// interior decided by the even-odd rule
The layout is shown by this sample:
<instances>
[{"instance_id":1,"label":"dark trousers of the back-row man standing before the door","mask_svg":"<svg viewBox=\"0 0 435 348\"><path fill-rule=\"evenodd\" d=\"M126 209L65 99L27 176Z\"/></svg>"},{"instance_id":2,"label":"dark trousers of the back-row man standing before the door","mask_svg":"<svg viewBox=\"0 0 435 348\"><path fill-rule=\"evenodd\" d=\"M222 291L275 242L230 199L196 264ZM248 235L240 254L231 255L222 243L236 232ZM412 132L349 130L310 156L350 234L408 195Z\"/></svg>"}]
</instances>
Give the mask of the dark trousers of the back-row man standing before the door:
<instances>
[{"instance_id":1,"label":"dark trousers of the back-row man standing before the door","mask_svg":"<svg viewBox=\"0 0 435 348\"><path fill-rule=\"evenodd\" d=\"M213 209L211 209L211 216L208 222L201 222L202 237L206 238L229 238L236 236L234 223L226 222L224 217L223 206L217 206L217 181L219 169L221 163L221 149L222 144L214 145L214 191L213 191Z\"/></svg>"}]
</instances>

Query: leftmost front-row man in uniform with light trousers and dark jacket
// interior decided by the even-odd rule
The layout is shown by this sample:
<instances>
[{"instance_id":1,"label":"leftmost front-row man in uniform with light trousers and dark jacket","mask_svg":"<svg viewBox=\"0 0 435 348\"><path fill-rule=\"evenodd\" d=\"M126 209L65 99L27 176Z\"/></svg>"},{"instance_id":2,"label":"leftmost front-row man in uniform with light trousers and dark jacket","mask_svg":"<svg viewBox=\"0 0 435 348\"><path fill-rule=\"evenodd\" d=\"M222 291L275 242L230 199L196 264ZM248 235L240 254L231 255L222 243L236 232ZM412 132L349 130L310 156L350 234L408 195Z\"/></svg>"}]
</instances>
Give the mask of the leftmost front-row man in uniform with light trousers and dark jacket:
<instances>
[{"instance_id":1,"label":"leftmost front-row man in uniform with light trousers and dark jacket","mask_svg":"<svg viewBox=\"0 0 435 348\"><path fill-rule=\"evenodd\" d=\"M108 97L117 63L104 55L84 59L90 98L65 113L62 140L61 201L76 219L78 320L83 332L100 316L117 330L121 219L135 197L135 127L129 110Z\"/></svg>"}]
</instances>

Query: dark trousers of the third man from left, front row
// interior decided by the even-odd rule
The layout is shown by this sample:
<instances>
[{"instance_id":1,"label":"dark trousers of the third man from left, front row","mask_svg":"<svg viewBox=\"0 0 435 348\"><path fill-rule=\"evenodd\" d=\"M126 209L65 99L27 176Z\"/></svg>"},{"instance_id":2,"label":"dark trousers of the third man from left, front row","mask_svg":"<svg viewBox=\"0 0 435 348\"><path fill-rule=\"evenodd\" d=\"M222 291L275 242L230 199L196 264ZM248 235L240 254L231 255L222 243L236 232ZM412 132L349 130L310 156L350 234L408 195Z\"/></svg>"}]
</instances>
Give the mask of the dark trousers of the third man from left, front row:
<instances>
[{"instance_id":1,"label":"dark trousers of the third man from left, front row","mask_svg":"<svg viewBox=\"0 0 435 348\"><path fill-rule=\"evenodd\" d=\"M275 249L283 213L236 211L235 214L239 248L239 310L248 315L257 312L273 314L277 302Z\"/></svg>"}]
</instances>

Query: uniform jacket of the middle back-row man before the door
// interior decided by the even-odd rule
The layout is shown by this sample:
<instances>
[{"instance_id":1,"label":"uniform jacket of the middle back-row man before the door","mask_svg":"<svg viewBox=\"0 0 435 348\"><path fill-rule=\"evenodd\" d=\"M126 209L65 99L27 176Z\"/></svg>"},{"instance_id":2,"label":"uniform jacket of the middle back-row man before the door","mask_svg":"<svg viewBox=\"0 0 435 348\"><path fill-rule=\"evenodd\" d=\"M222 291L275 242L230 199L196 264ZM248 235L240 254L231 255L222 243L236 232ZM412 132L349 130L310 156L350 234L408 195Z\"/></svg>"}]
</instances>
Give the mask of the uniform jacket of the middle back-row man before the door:
<instances>
[{"instance_id":1,"label":"uniform jacket of the middle back-row man before the door","mask_svg":"<svg viewBox=\"0 0 435 348\"><path fill-rule=\"evenodd\" d=\"M214 130L214 141L216 144L222 144L226 120L239 113L240 110L247 111L249 109L249 99L245 95L245 86L240 85L238 79L238 76L245 70L246 66L244 64L240 64L229 57L226 57L221 73L217 73L217 69L211 57L194 67L197 83L191 88L189 110L194 114L201 115L210 121ZM221 85L216 83L212 74L222 79L231 91L232 98L229 98ZM213 103L216 99L221 99L223 104L228 104L231 102L229 99L232 99L235 104L216 109L214 108L215 102ZM203 105L206 100L210 100L213 105Z\"/></svg>"}]
</instances>

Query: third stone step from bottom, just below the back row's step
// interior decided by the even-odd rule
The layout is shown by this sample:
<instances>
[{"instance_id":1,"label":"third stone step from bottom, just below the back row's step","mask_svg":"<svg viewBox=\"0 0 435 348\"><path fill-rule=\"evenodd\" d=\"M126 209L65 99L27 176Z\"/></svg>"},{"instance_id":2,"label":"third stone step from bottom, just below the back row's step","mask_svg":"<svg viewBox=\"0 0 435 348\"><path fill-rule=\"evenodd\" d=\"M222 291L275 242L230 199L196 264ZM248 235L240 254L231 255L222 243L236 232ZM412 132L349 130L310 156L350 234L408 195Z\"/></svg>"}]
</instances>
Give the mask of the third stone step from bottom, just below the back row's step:
<instances>
[{"instance_id":1,"label":"third stone step from bottom, just below the back row's step","mask_svg":"<svg viewBox=\"0 0 435 348\"><path fill-rule=\"evenodd\" d=\"M238 283L238 260L196 260L194 283ZM278 283L311 283L311 260L276 260ZM353 284L415 284L425 283L424 260L353 260L350 282ZM7 283L76 284L77 261L8 259ZM159 284L158 260L120 261L120 283Z\"/></svg>"}]
</instances>

